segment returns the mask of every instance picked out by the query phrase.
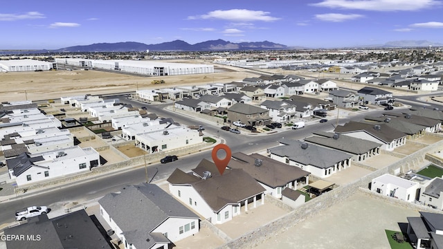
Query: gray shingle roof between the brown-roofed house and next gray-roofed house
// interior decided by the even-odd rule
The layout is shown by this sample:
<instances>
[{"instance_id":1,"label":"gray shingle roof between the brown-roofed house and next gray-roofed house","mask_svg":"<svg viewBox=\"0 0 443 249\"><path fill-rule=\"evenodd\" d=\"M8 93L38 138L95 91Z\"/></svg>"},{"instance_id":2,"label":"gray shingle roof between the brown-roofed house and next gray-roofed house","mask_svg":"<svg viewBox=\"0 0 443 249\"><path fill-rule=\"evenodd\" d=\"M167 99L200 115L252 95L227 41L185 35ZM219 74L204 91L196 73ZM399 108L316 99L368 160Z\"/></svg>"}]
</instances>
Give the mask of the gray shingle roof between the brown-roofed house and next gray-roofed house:
<instances>
[{"instance_id":1,"label":"gray shingle roof between the brown-roofed house and next gray-roofed house","mask_svg":"<svg viewBox=\"0 0 443 249\"><path fill-rule=\"evenodd\" d=\"M302 165L313 165L325 169L352 157L350 154L336 151L335 149L328 149L312 144L309 144L306 149L302 149L301 145L304 142L298 140L283 138L279 142L284 145L270 148L269 152L282 157L286 156L290 160L301 163Z\"/></svg>"}]
</instances>

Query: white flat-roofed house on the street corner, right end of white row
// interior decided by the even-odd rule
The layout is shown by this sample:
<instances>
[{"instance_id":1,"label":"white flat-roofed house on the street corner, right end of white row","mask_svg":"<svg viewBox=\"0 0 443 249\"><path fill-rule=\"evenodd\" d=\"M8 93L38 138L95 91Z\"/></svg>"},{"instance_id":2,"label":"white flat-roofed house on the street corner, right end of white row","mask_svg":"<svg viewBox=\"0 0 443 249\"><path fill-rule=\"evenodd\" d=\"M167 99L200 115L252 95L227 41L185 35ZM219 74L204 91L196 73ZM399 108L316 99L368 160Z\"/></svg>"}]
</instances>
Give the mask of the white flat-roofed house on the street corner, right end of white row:
<instances>
[{"instance_id":1,"label":"white flat-roofed house on the street corner, right end of white row","mask_svg":"<svg viewBox=\"0 0 443 249\"><path fill-rule=\"evenodd\" d=\"M170 151L203 142L199 131L188 127L168 127L135 135L136 145L148 153Z\"/></svg>"}]
</instances>

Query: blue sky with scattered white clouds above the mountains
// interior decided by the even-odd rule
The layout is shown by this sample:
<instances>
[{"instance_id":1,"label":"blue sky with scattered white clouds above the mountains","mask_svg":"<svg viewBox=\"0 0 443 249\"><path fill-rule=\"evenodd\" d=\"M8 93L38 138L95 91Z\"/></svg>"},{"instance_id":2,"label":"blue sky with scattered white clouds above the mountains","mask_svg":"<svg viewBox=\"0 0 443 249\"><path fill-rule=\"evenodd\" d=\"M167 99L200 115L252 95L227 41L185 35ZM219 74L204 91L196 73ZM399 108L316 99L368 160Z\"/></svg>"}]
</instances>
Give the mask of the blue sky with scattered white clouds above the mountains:
<instances>
[{"instance_id":1,"label":"blue sky with scattered white clouds above the mountains","mask_svg":"<svg viewBox=\"0 0 443 249\"><path fill-rule=\"evenodd\" d=\"M3 1L0 49L175 39L309 48L443 43L442 13L443 0Z\"/></svg>"}]
</instances>

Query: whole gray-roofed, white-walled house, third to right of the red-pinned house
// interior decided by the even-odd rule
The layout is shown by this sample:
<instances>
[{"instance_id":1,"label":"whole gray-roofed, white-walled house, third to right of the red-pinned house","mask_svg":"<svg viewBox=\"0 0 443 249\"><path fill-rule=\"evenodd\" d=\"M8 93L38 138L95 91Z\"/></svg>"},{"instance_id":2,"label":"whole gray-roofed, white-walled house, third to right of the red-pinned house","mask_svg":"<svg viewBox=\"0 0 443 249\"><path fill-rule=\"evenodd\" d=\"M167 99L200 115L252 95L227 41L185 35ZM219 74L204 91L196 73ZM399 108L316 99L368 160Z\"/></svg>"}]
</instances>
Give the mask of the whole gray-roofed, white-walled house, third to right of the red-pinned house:
<instances>
[{"instance_id":1,"label":"whole gray-roofed, white-walled house, third to right of the red-pinned house","mask_svg":"<svg viewBox=\"0 0 443 249\"><path fill-rule=\"evenodd\" d=\"M352 160L361 162L380 154L381 144L361 138L340 136L338 133L315 131L314 136L305 138L305 142L343 151L352 155Z\"/></svg>"}]
</instances>

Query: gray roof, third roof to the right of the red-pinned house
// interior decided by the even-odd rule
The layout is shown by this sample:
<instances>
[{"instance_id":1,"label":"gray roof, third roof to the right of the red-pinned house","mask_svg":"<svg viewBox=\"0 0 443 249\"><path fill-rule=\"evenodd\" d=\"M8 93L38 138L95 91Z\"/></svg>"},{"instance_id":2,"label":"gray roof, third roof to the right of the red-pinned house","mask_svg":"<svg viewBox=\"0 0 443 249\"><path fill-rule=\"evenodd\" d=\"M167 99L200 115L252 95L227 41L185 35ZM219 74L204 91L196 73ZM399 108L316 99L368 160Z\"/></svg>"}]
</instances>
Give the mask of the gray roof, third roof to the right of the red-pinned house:
<instances>
[{"instance_id":1,"label":"gray roof, third roof to the right of the red-pinned house","mask_svg":"<svg viewBox=\"0 0 443 249\"><path fill-rule=\"evenodd\" d=\"M372 142L360 138L352 138L350 136L340 136L338 134L336 135L335 139L334 133L318 132L314 134L319 136L311 136L309 138L305 138L305 141L314 143L316 145L322 145L332 149L337 149L354 155L365 154L371 149L381 146L381 144L377 142Z\"/></svg>"}]
</instances>

